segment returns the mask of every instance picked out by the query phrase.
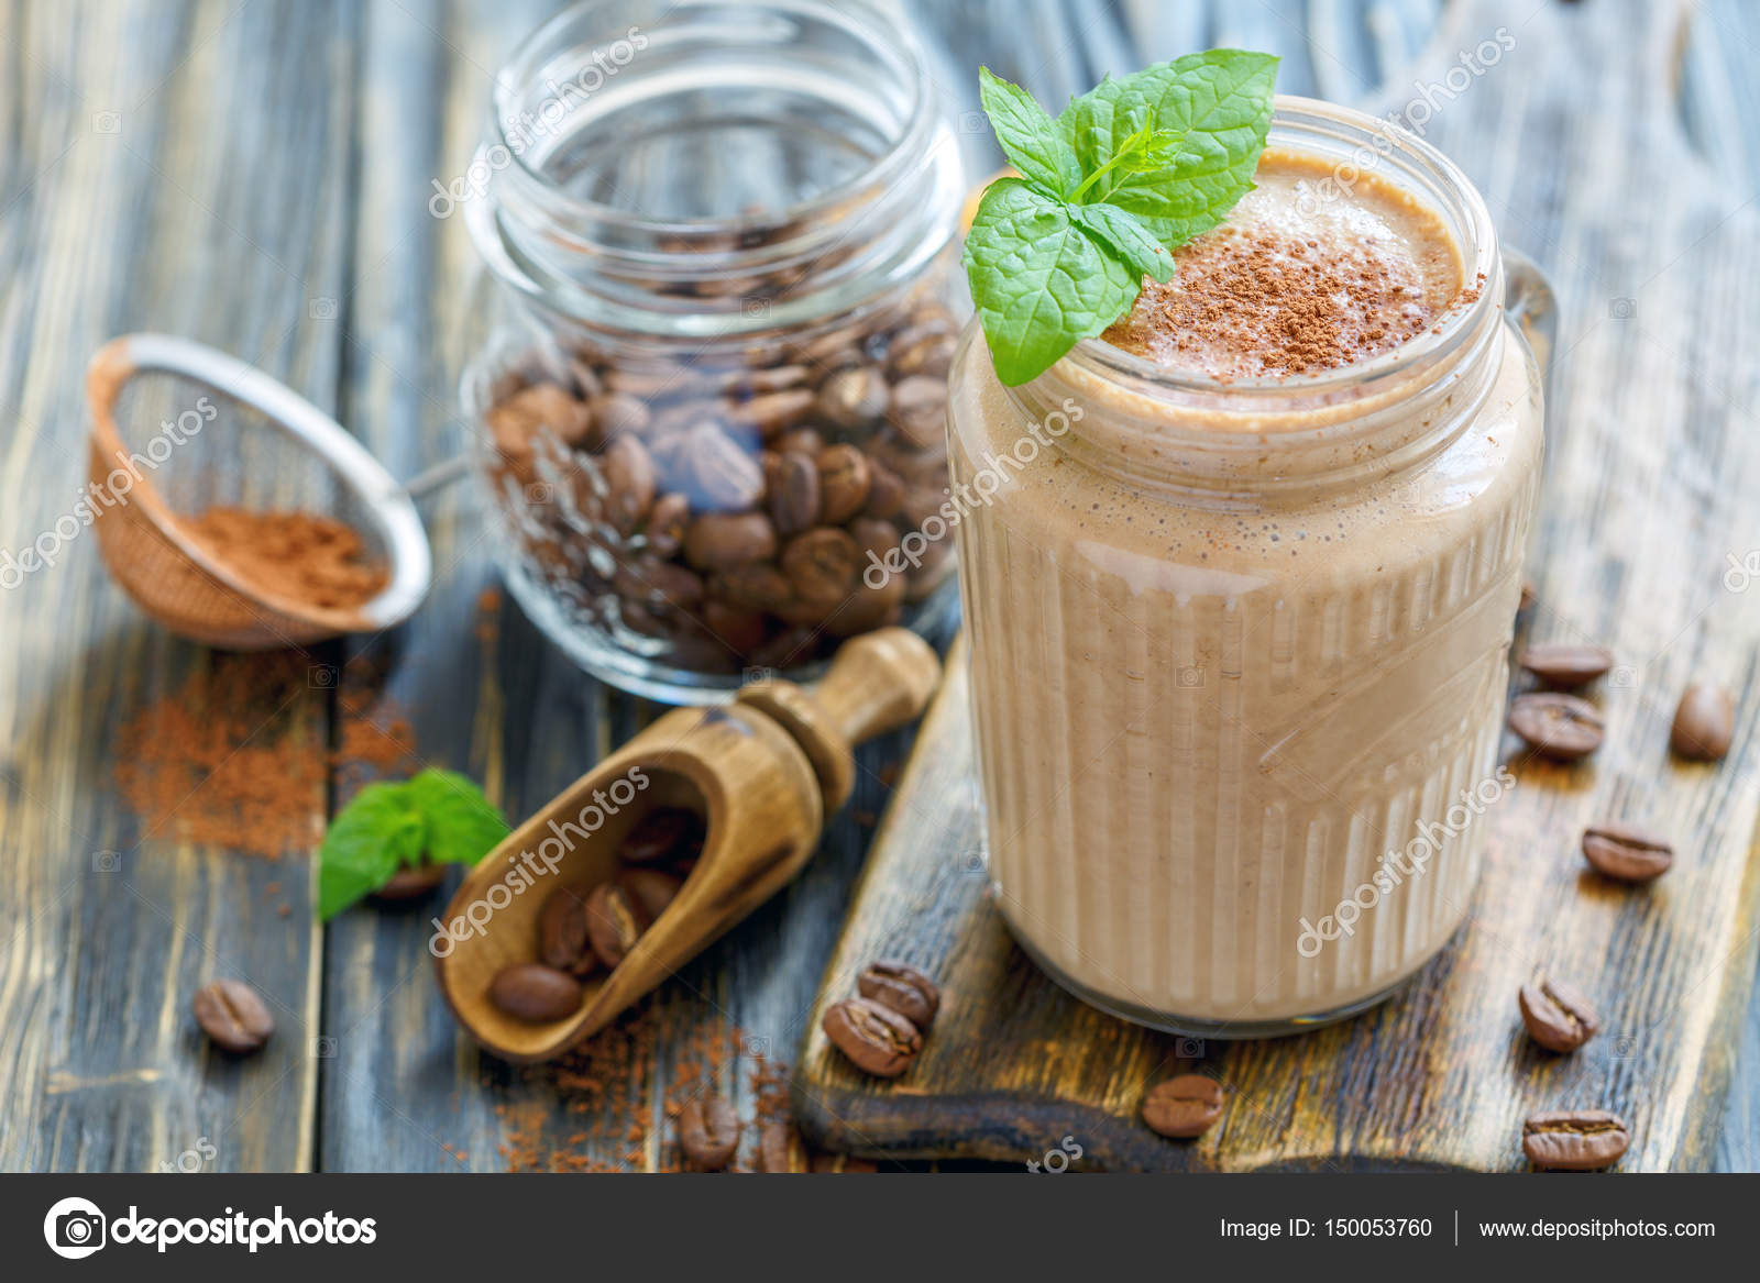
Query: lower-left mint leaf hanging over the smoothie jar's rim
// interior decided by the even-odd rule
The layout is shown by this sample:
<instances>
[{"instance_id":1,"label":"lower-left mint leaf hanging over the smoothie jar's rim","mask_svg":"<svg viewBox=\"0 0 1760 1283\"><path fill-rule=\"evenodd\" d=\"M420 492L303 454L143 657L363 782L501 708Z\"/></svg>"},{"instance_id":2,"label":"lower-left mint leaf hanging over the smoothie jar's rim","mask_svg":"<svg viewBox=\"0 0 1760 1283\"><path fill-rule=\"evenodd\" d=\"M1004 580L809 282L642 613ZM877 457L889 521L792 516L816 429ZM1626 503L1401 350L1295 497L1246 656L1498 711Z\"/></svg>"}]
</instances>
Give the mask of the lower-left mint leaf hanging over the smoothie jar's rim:
<instances>
[{"instance_id":1,"label":"lower-left mint leaf hanging over the smoothie jar's rim","mask_svg":"<svg viewBox=\"0 0 1760 1283\"><path fill-rule=\"evenodd\" d=\"M996 377L1010 387L1111 326L1142 289L1142 275L1075 224L1067 204L1017 178L984 192L963 259Z\"/></svg>"}]
</instances>

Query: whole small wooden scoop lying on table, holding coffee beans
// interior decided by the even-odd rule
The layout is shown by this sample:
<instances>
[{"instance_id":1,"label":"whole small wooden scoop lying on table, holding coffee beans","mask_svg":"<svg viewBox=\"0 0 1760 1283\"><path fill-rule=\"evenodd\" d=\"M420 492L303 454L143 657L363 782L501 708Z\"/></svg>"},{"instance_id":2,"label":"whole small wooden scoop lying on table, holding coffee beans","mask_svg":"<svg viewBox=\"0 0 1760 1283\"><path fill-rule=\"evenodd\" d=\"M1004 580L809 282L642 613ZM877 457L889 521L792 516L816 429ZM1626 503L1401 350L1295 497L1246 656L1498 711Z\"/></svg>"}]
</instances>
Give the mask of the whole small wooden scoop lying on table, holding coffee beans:
<instances>
[{"instance_id":1,"label":"whole small wooden scoop lying on table, holding coffee beans","mask_svg":"<svg viewBox=\"0 0 1760 1283\"><path fill-rule=\"evenodd\" d=\"M576 780L472 869L436 922L429 947L459 1023L512 1061L598 1033L806 864L825 815L848 801L852 746L920 715L940 667L920 637L882 628L845 642L813 688L762 681L725 707L674 709ZM623 963L590 977L560 1021L491 1003L502 968L537 961L544 899L611 880L623 834L662 806L702 817L702 855Z\"/></svg>"}]
</instances>

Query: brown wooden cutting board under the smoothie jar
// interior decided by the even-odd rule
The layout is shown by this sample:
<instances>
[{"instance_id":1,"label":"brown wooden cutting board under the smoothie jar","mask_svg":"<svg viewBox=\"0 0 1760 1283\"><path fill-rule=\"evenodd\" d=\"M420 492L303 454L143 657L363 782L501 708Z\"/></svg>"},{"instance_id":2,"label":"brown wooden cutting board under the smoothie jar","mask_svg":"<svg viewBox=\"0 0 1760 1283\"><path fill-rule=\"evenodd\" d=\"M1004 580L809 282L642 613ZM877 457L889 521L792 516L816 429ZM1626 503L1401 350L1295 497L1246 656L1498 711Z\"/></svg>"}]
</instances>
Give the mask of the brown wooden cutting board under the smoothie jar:
<instances>
[{"instance_id":1,"label":"brown wooden cutting board under the smoothie jar","mask_svg":"<svg viewBox=\"0 0 1760 1283\"><path fill-rule=\"evenodd\" d=\"M1760 940L1760 227L1677 134L1677 18L1676 5L1542 7L1427 130L1563 303L1529 558L1538 604L1522 628L1605 642L1619 665L1593 692L1609 723L1593 759L1556 766L1505 744L1519 783L1491 813L1463 931L1385 1005L1297 1038L1200 1044L1084 1007L991 908L956 648L810 1015L794 1107L813 1140L868 1156L1054 1155L1051 1167L1079 1147L1077 1169L1508 1170L1524 1167L1528 1112L1603 1107L1632 1128L1623 1169L1711 1165ZM1445 83L1461 49L1510 21L1457 5L1392 83ZM1716 766L1667 748L1698 676L1741 706ZM1582 864L1584 825L1617 815L1676 841L1676 868L1649 889ZM861 1075L820 1033L824 1007L876 956L915 963L945 993L894 1082ZM1573 1056L1522 1033L1515 993L1538 971L1603 1015ZM1223 1121L1193 1142L1140 1126L1144 1089L1193 1068L1227 1086Z\"/></svg>"}]
</instances>

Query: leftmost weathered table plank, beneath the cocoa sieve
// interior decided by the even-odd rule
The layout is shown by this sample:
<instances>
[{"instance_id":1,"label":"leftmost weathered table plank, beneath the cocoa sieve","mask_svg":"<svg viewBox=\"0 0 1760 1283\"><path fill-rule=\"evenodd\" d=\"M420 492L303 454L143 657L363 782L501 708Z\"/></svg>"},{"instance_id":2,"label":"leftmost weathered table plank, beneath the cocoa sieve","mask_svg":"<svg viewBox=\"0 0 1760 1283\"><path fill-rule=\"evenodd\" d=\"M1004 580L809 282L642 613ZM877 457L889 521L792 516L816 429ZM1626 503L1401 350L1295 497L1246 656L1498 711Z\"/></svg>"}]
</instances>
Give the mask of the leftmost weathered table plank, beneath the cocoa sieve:
<instances>
[{"instance_id":1,"label":"leftmost weathered table plank, beneath the cocoa sieve","mask_svg":"<svg viewBox=\"0 0 1760 1283\"><path fill-rule=\"evenodd\" d=\"M81 4L0 21L18 72L4 90L0 546L18 549L81 493L83 368L114 333L208 340L329 398L336 331L312 324L310 299L338 292L352 99L338 5ZM123 804L120 729L209 658L106 583L90 535L63 551L0 609L0 1167L310 1167L308 869L192 845L176 824L146 831ZM322 753L326 718L326 692L299 681L273 734ZM317 832L320 780L310 815ZM253 1059L194 1031L190 996L218 975L255 984L280 1023Z\"/></svg>"}]
</instances>

